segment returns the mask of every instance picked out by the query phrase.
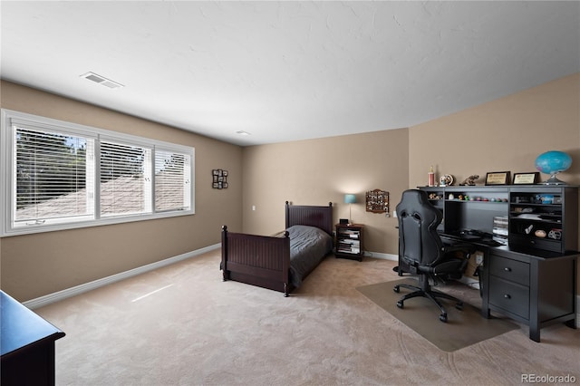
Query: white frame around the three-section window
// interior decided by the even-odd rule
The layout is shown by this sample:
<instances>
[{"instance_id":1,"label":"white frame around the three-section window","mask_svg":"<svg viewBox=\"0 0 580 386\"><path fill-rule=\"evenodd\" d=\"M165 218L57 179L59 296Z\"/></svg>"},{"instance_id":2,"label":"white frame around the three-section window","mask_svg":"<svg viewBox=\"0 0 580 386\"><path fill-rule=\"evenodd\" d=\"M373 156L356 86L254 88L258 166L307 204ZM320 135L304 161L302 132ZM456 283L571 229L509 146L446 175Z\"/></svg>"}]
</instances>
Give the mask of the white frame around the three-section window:
<instances>
[{"instance_id":1,"label":"white frame around the three-section window","mask_svg":"<svg viewBox=\"0 0 580 386\"><path fill-rule=\"evenodd\" d=\"M137 137L121 132L103 130L90 126L84 126L76 123L58 121L20 111L11 111L2 109L1 111L1 130L0 133L0 236L16 236L32 233L49 232L65 229L74 229L81 227L95 227L102 225L111 225L126 223L140 220L150 220L155 218L189 216L195 214L195 149L189 146L178 145L160 140L151 140L143 137ZM14 126L13 121L25 122L26 125L40 130L59 130L70 133L71 135L89 137L95 140L96 151L95 164L99 164L99 148L101 140L112 140L124 144L146 147L151 150L150 165L147 166L148 173L152 182L148 184L150 189L145 192L145 200L148 200L146 212L137 214L123 214L117 216L101 216L100 211L100 173L97 166L92 173L93 179L87 180L87 185L94 186L94 208L93 214L82 219L73 217L64 220L42 221L38 224L28 224L26 226L14 226L15 214L15 150L14 150ZM175 152L186 155L189 159L188 165L184 167L186 183L184 187L183 198L189 199L189 207L165 209L157 211L155 207L155 150ZM189 184L189 187L187 186Z\"/></svg>"}]
</instances>

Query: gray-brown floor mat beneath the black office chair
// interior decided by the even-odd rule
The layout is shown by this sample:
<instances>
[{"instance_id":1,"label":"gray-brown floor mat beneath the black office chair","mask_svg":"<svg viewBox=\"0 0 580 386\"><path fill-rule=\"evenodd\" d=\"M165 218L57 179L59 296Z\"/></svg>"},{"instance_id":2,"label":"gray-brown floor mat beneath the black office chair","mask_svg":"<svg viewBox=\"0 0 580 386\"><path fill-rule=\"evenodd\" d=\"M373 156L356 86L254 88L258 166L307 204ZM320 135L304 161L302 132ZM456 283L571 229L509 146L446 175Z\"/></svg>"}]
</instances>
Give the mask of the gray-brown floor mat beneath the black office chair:
<instances>
[{"instance_id":1,"label":"gray-brown floor mat beneath the black office chair","mask_svg":"<svg viewBox=\"0 0 580 386\"><path fill-rule=\"evenodd\" d=\"M465 303L467 299L463 299L463 311L456 309L451 301L442 301L448 314L447 323L440 322L439 307L427 298L415 297L407 300L405 308L400 309L397 307L397 301L403 294L410 292L406 288L401 288L399 294L395 293L394 285L401 283L417 285L417 280L406 278L376 285L363 285L356 289L442 351L454 352L519 328L517 324L504 319L482 317L477 307ZM443 291L441 288L438 289ZM453 295L462 299L460 292Z\"/></svg>"}]
</instances>

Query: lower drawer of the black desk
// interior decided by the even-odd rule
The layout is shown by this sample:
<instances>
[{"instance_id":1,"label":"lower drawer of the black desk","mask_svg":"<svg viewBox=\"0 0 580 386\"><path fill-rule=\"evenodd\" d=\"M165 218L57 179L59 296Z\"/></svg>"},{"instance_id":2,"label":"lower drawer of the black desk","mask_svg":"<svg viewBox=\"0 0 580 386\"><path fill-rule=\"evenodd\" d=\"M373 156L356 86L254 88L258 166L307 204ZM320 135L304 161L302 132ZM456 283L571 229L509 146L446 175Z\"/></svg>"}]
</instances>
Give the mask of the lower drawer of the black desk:
<instances>
[{"instance_id":1,"label":"lower drawer of the black desk","mask_svg":"<svg viewBox=\"0 0 580 386\"><path fill-rule=\"evenodd\" d=\"M529 287L489 276L489 303L529 320Z\"/></svg>"}]
</instances>

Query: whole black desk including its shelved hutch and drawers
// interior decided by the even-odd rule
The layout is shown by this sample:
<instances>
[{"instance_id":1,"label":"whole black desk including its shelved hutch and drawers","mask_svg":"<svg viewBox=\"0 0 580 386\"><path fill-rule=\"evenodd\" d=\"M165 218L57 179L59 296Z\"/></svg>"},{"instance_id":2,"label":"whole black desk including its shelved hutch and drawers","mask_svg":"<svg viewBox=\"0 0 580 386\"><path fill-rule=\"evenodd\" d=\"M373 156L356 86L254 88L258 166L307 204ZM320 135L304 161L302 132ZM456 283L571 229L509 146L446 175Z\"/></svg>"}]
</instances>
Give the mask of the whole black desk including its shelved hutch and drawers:
<instances>
[{"instance_id":1,"label":"whole black desk including its shelved hutch and drawers","mask_svg":"<svg viewBox=\"0 0 580 386\"><path fill-rule=\"evenodd\" d=\"M507 185L421 187L439 208L437 228L449 242L469 243L484 253L480 270L481 314L491 312L540 329L552 323L575 328L578 249L578 187ZM507 245L462 238L465 230L493 234L507 220ZM454 236L455 235L455 236ZM470 235L469 235L470 236ZM403 267L404 269L404 267Z\"/></svg>"}]
</instances>

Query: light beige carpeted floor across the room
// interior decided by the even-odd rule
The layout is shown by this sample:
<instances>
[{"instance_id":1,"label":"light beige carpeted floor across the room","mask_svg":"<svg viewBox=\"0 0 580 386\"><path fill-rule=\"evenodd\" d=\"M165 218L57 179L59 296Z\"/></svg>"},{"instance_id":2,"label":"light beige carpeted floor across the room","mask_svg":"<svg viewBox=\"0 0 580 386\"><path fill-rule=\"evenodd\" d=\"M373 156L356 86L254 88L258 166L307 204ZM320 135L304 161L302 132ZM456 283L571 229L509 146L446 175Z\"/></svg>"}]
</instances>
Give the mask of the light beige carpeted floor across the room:
<instances>
[{"instance_id":1,"label":"light beige carpeted floor across the room","mask_svg":"<svg viewBox=\"0 0 580 386\"><path fill-rule=\"evenodd\" d=\"M580 333L527 327L445 352L357 287L393 261L326 258L290 297L223 282L220 251L35 310L61 328L57 385L496 385L580 380ZM459 288L458 288L459 290ZM477 301L478 291L460 292ZM410 307L411 309L411 307ZM437 312L433 323L440 324Z\"/></svg>"}]
</instances>

